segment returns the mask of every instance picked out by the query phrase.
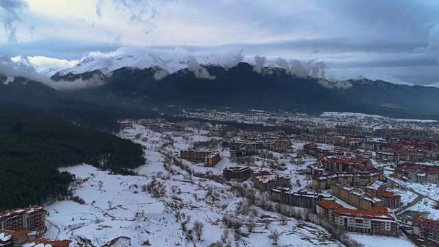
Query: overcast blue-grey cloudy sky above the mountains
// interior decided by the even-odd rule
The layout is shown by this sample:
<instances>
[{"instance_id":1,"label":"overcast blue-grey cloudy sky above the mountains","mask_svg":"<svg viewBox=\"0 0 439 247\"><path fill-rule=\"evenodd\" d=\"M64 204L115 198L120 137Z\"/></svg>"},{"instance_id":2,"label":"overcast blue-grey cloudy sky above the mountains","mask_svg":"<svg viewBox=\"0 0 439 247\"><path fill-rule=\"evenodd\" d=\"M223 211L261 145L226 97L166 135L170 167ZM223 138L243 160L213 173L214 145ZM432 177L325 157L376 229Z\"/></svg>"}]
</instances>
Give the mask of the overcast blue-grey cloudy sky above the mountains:
<instances>
[{"instance_id":1,"label":"overcast blue-grey cloudy sky above the mountains","mask_svg":"<svg viewBox=\"0 0 439 247\"><path fill-rule=\"evenodd\" d=\"M0 0L0 55L70 67L120 47L317 60L334 78L439 82L439 1Z\"/></svg>"}]
</instances>

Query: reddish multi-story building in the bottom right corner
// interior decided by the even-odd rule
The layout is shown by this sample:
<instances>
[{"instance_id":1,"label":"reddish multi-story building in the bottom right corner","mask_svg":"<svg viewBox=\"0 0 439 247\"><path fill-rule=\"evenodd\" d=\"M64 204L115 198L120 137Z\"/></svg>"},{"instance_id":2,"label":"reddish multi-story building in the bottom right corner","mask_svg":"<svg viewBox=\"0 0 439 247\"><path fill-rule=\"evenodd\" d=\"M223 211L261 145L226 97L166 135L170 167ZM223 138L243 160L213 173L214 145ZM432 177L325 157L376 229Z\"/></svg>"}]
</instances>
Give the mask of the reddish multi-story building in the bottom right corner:
<instances>
[{"instance_id":1,"label":"reddish multi-story building in the bottom right corner","mask_svg":"<svg viewBox=\"0 0 439 247\"><path fill-rule=\"evenodd\" d=\"M439 220L418 218L413 220L413 234L425 246L439 247Z\"/></svg>"}]
</instances>

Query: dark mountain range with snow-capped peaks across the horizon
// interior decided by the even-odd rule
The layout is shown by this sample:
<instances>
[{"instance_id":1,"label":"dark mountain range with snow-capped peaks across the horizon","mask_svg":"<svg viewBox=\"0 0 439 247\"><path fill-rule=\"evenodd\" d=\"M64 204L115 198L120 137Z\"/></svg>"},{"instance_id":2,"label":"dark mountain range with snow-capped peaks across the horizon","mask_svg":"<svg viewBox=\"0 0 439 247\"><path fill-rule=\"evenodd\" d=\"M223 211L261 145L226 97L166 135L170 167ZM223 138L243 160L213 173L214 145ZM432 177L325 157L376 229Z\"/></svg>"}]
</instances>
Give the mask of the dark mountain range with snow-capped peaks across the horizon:
<instances>
[{"instance_id":1,"label":"dark mountain range with snow-capped peaks across the horizon","mask_svg":"<svg viewBox=\"0 0 439 247\"><path fill-rule=\"evenodd\" d=\"M200 62L198 62L200 61ZM29 101L148 110L176 105L189 108L287 110L319 114L348 111L416 119L439 119L439 89L392 84L366 78L329 81L298 76L288 69L254 67L246 62L224 65L213 58L162 59L154 54L86 58L51 75L56 83L86 86L56 91L37 82L0 80L3 102ZM47 73L50 75L51 73ZM9 93L5 93L8 91ZM32 93L30 93L32 91ZM26 97L25 95L32 94ZM39 98L38 98L39 97ZM37 99L36 99L37 98ZM44 99L42 99L44 98ZM39 103L43 104L43 103Z\"/></svg>"}]
</instances>

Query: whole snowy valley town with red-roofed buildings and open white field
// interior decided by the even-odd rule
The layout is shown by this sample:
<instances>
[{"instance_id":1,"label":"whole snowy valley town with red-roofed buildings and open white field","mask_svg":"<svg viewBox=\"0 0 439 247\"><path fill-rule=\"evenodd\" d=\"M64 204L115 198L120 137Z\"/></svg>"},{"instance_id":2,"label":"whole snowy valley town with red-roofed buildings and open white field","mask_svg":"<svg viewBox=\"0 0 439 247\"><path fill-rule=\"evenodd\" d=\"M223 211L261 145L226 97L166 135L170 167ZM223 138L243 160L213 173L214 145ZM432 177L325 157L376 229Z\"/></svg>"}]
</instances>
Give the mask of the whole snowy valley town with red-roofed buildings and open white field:
<instances>
[{"instance_id":1,"label":"whole snowy valley town with red-roofed buildings and open white field","mask_svg":"<svg viewBox=\"0 0 439 247\"><path fill-rule=\"evenodd\" d=\"M217 117L228 119L222 114ZM156 246L160 235L172 246L200 241L259 246L292 238L316 246L376 246L375 241L439 246L436 122L346 113L292 115L290 120L286 113L257 113L254 119L232 115L269 130L219 124L210 113L197 113L199 121L121 121L119 137L145 150L147 164L133 171L137 176L110 175L89 165L66 167L62 170L76 178L72 197L39 207L40 228L11 224L8 215L19 215L21 209L4 212L0 241ZM187 230L190 215L197 220L193 231ZM116 219L134 228L119 231ZM175 232L151 237L151 228L164 224ZM209 233L195 234L199 224ZM303 227L316 228L318 234L299 237ZM257 232L265 238L252 237L261 235Z\"/></svg>"}]
</instances>

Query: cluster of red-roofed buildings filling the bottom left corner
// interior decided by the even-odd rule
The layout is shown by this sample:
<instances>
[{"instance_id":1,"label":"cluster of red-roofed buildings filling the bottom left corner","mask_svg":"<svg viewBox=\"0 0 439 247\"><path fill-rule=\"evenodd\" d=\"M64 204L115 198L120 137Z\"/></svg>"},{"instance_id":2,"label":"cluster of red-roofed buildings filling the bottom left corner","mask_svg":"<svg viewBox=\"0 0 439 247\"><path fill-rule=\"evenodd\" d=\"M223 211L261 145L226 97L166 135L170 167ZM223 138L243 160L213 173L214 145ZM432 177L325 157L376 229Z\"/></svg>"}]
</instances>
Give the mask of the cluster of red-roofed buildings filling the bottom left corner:
<instances>
[{"instance_id":1,"label":"cluster of red-roofed buildings filling the bottom left corner","mask_svg":"<svg viewBox=\"0 0 439 247\"><path fill-rule=\"evenodd\" d=\"M6 210L0 213L0 246L69 247L70 240L40 238L47 231L45 222L46 211L40 206Z\"/></svg>"}]
</instances>

